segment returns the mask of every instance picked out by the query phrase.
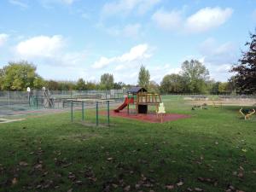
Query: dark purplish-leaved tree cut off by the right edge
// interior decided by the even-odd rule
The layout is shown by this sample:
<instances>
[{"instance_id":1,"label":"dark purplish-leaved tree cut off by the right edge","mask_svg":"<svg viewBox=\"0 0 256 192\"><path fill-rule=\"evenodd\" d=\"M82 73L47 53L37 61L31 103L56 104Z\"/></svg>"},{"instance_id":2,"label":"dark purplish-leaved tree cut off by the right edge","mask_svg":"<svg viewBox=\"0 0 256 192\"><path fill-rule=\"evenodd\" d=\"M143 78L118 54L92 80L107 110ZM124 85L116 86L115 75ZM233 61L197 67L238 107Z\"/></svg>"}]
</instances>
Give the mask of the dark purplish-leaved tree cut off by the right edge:
<instances>
[{"instance_id":1,"label":"dark purplish-leaved tree cut off by the right edge","mask_svg":"<svg viewBox=\"0 0 256 192\"><path fill-rule=\"evenodd\" d=\"M241 59L231 68L235 72L236 87L240 92L256 93L256 30L250 33L251 42L247 42L247 51L241 51Z\"/></svg>"}]
</instances>

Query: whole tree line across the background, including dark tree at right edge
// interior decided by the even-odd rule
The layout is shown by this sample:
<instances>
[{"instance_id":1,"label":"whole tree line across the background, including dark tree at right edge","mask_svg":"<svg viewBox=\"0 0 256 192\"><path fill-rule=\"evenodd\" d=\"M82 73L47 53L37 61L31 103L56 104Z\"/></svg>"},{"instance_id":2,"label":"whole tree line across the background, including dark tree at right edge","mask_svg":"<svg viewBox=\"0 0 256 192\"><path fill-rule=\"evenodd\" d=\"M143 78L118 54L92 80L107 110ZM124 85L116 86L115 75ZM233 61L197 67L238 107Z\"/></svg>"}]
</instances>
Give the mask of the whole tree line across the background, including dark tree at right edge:
<instances>
[{"instance_id":1,"label":"whole tree line across the background, including dark tree at right edge","mask_svg":"<svg viewBox=\"0 0 256 192\"><path fill-rule=\"evenodd\" d=\"M43 79L36 72L37 67L28 61L9 62L0 68L0 90L26 90L30 87L41 90L111 90L129 89L131 86L143 86L149 91L166 94L236 94L256 93L256 34L250 34L251 42L245 45L241 59L233 65L230 72L235 73L227 82L210 79L209 71L200 61L184 61L180 73L167 74L160 84L150 81L150 73L146 67L141 66L137 84L114 82L113 74L104 73L100 82L85 81L56 81Z\"/></svg>"}]
</instances>

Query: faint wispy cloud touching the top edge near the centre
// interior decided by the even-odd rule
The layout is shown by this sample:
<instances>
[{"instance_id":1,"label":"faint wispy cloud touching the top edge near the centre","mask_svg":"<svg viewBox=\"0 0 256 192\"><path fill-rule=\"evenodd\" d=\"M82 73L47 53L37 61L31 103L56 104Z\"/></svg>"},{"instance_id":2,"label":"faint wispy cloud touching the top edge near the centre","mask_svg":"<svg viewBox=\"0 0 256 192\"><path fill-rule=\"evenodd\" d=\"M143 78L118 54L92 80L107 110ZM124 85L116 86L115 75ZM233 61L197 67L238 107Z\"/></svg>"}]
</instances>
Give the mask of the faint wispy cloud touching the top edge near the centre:
<instances>
[{"instance_id":1,"label":"faint wispy cloud touching the top edge near the centre","mask_svg":"<svg viewBox=\"0 0 256 192\"><path fill-rule=\"evenodd\" d=\"M129 14L136 9L137 13L144 14L152 9L160 0L119 0L105 3L102 8L103 15Z\"/></svg>"}]
</instances>

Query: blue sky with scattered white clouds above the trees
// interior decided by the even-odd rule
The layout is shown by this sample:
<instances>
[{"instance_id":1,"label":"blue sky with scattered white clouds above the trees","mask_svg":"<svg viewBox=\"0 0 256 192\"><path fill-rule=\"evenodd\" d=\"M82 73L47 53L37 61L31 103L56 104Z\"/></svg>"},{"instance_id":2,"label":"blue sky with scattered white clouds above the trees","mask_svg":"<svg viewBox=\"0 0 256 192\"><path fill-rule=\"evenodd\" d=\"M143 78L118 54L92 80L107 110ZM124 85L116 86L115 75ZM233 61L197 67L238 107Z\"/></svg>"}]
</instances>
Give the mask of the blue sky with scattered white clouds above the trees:
<instances>
[{"instance_id":1,"label":"blue sky with scattered white clouds above the trees","mask_svg":"<svg viewBox=\"0 0 256 192\"><path fill-rule=\"evenodd\" d=\"M126 84L141 65L160 83L190 59L227 81L256 27L256 0L1 0L0 13L0 67L25 60L44 79Z\"/></svg>"}]
</instances>

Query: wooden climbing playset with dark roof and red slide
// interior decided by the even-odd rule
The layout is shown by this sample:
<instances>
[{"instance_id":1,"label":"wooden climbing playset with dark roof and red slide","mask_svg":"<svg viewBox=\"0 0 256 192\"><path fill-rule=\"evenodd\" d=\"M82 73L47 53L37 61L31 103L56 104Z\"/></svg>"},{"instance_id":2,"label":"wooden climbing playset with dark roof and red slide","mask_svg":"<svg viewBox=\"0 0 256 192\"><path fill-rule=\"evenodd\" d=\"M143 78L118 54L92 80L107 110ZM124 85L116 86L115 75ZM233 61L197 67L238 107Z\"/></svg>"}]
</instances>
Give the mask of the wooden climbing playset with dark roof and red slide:
<instances>
[{"instance_id":1,"label":"wooden climbing playset with dark roof and red slide","mask_svg":"<svg viewBox=\"0 0 256 192\"><path fill-rule=\"evenodd\" d=\"M114 112L119 113L120 110L127 107L127 113L129 112L129 105L136 105L137 113L148 113L148 106L155 106L158 110L161 101L161 97L157 93L148 93L143 87L132 87L131 90L127 91L127 97L125 97L125 102Z\"/></svg>"}]
</instances>

